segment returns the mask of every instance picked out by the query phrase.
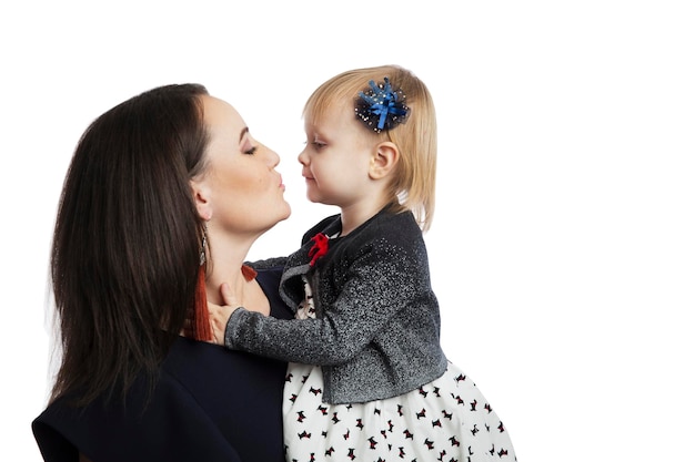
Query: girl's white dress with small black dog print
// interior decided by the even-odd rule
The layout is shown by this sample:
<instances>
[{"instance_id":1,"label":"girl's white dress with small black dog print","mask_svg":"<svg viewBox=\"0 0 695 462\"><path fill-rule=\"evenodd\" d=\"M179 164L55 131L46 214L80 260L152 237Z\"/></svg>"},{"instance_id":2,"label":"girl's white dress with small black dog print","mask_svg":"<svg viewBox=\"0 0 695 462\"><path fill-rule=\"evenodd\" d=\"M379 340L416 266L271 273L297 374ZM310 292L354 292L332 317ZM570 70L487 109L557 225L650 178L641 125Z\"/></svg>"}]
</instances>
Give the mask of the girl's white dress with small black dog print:
<instances>
[{"instance_id":1,"label":"girl's white dress with small black dog print","mask_svg":"<svg viewBox=\"0 0 695 462\"><path fill-rule=\"evenodd\" d=\"M311 302L296 317L308 316L313 316ZM497 414L451 362L439 379L389 399L329 404L322 390L321 367L289 365L283 400L288 462L516 460Z\"/></svg>"}]
</instances>

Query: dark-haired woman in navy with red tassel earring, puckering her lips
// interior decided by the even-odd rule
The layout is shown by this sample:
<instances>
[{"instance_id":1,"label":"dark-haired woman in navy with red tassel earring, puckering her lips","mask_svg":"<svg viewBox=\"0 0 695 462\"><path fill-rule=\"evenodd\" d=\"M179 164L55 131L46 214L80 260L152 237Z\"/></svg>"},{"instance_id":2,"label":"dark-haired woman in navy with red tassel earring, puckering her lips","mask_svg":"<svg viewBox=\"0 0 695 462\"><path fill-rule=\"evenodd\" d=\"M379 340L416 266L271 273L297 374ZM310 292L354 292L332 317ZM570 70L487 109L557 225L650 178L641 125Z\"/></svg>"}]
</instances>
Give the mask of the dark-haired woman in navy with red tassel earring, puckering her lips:
<instances>
[{"instance_id":1,"label":"dark-haired woman in navy with red tassel earring, puckering her lips","mask_svg":"<svg viewBox=\"0 0 695 462\"><path fill-rule=\"evenodd\" d=\"M53 236L62 362L32 423L46 461L284 460L286 363L208 342L207 311L224 281L264 315L292 316L279 273L243 266L290 215L278 163L195 84L148 91L89 126Z\"/></svg>"}]
</instances>

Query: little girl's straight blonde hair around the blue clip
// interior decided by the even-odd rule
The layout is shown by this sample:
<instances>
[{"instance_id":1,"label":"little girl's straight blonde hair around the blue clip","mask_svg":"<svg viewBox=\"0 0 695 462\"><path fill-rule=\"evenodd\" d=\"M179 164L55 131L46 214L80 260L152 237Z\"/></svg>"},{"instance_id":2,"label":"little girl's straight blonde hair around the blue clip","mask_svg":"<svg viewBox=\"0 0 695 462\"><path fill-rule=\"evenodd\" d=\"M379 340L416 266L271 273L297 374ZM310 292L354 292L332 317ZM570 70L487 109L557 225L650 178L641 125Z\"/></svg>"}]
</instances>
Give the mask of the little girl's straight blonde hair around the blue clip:
<instances>
[{"instance_id":1,"label":"little girl's straight blonde hair around the blue clip","mask_svg":"<svg viewBox=\"0 0 695 462\"><path fill-rule=\"evenodd\" d=\"M383 82L389 78L394 90L405 94L410 115L405 123L381 133L364 126L377 141L394 143L400 152L395 175L387 186L387 193L397 198L396 212L411 211L423 232L432 225L436 179L436 115L432 95L425 84L411 71L399 65L354 69L329 79L319 86L306 101L303 115L309 122L316 122L326 111L344 107L360 91L369 88L369 82ZM351 103L350 107L354 107ZM355 123L362 122L355 116Z\"/></svg>"}]
</instances>

